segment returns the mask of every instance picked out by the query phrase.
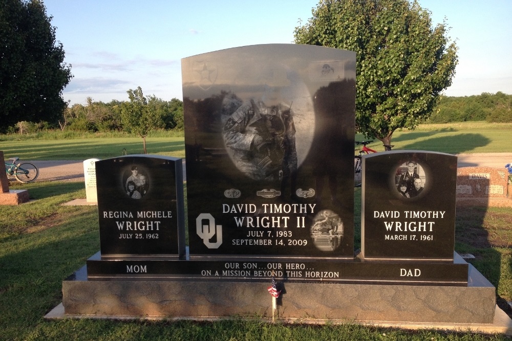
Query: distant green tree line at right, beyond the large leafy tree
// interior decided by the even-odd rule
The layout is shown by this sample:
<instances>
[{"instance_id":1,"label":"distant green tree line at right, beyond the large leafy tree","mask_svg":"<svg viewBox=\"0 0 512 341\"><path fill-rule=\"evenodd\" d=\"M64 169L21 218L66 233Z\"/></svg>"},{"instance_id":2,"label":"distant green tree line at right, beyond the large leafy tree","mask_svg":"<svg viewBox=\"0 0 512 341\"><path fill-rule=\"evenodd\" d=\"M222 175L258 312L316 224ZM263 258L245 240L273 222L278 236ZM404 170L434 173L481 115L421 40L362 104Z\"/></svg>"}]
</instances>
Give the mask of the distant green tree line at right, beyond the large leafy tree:
<instances>
[{"instance_id":1,"label":"distant green tree line at right, beyond the large leafy tree","mask_svg":"<svg viewBox=\"0 0 512 341\"><path fill-rule=\"evenodd\" d=\"M441 100L434 108L434 113L429 122L512 122L511 104L512 95L502 92L463 97L441 96Z\"/></svg>"}]
</instances>

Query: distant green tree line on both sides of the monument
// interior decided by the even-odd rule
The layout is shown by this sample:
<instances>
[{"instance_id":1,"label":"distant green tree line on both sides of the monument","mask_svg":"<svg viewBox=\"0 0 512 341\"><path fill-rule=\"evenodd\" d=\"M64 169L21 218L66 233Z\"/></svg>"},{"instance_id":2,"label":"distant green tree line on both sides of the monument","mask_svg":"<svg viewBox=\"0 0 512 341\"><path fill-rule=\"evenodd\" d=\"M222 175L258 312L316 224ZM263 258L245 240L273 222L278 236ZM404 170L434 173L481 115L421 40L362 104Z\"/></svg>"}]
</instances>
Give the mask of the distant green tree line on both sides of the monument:
<instances>
[{"instance_id":1,"label":"distant green tree line on both sides of the monument","mask_svg":"<svg viewBox=\"0 0 512 341\"><path fill-rule=\"evenodd\" d=\"M184 129L183 102L177 98L164 101L156 96L147 96L147 105L157 117L157 129ZM29 133L49 129L79 132L130 131L121 123L121 107L125 101L112 100L108 103L95 102L87 98L87 104L73 104L65 109L55 122L20 121L5 132ZM502 92L482 93L474 96L441 96L429 123L449 123L465 121L487 121L497 123L512 122L512 95Z\"/></svg>"}]
</instances>

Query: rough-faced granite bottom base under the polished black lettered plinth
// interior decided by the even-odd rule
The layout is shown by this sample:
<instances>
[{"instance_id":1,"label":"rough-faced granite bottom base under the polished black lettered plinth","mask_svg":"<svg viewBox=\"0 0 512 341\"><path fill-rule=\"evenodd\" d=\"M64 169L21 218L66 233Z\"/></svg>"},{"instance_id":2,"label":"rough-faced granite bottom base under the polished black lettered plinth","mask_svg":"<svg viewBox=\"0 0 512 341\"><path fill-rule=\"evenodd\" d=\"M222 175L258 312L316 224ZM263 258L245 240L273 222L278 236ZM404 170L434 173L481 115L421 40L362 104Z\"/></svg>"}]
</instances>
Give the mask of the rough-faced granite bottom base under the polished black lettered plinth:
<instances>
[{"instance_id":1,"label":"rough-faced granite bottom base under the polished black lettered plinth","mask_svg":"<svg viewBox=\"0 0 512 341\"><path fill-rule=\"evenodd\" d=\"M62 283L69 315L230 317L272 315L261 282L88 280L84 266ZM279 317L492 324L495 287L472 265L468 286L284 283Z\"/></svg>"}]
</instances>

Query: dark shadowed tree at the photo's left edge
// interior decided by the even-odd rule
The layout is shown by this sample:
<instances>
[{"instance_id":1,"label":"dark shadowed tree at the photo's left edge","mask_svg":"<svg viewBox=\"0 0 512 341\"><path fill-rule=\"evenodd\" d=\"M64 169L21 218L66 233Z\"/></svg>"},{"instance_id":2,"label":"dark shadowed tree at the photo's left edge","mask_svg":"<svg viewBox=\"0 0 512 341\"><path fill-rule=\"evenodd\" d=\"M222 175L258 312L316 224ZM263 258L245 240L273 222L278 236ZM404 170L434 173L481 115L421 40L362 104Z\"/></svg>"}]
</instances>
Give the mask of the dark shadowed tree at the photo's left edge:
<instances>
[{"instance_id":1,"label":"dark shadowed tree at the photo's left edge","mask_svg":"<svg viewBox=\"0 0 512 341\"><path fill-rule=\"evenodd\" d=\"M56 122L71 65L40 0L0 0L0 130L20 120Z\"/></svg>"}]
</instances>

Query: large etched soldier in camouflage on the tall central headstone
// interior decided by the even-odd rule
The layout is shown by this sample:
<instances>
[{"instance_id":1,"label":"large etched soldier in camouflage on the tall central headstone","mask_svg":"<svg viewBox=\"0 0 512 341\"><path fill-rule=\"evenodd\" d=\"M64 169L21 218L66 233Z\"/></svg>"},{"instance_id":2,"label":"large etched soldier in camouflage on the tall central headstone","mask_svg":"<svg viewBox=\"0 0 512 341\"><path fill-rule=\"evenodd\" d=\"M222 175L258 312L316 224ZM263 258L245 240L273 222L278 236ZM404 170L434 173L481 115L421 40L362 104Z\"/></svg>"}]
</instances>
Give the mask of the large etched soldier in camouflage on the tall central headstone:
<instances>
[{"instance_id":1,"label":"large etched soldier in camouflage on the tall central headstone","mask_svg":"<svg viewBox=\"0 0 512 341\"><path fill-rule=\"evenodd\" d=\"M291 105L260 99L242 103L230 96L223 103L226 110L234 112L224 125L224 143L237 168L254 180L290 181L295 192L297 151Z\"/></svg>"}]
</instances>

